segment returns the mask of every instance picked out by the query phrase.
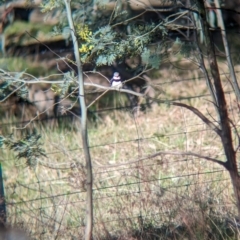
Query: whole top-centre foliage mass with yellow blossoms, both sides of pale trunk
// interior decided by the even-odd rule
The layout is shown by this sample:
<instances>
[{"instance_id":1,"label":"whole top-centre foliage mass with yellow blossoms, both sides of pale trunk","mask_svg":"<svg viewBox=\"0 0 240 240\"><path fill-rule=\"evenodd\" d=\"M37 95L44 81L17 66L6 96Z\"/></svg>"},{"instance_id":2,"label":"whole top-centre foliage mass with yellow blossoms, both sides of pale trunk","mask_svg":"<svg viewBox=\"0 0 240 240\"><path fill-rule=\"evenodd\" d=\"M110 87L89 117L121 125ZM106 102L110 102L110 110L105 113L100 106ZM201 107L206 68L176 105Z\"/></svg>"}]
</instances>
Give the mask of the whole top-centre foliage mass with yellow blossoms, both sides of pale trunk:
<instances>
[{"instance_id":1,"label":"whole top-centre foliage mass with yellow blossoms, both sides of pale trunk","mask_svg":"<svg viewBox=\"0 0 240 240\"><path fill-rule=\"evenodd\" d=\"M112 65L115 61L140 55L145 57L148 67L157 68L160 64L160 52L146 51L149 44L159 42L167 34L164 23L144 22L139 19L128 22L129 6L121 1L72 1L73 21L79 39L79 52L83 63L95 63L97 66ZM45 1L43 11L62 8L61 1ZM61 32L70 37L64 15L60 25L55 26L55 34ZM67 34L66 34L67 33ZM147 58L147 59L146 59Z\"/></svg>"}]
</instances>

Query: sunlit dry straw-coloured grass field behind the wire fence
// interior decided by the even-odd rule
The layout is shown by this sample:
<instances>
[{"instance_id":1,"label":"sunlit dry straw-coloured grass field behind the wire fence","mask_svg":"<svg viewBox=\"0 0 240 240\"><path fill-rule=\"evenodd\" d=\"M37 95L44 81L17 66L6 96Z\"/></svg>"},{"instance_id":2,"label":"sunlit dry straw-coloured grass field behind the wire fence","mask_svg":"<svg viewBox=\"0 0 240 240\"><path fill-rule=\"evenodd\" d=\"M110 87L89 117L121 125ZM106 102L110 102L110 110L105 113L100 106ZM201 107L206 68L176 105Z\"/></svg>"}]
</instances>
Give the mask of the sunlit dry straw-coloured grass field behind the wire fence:
<instances>
[{"instance_id":1,"label":"sunlit dry straw-coloured grass field behind the wire fence","mask_svg":"<svg viewBox=\"0 0 240 240\"><path fill-rule=\"evenodd\" d=\"M197 69L187 60L178 63L181 71L166 66L153 82L161 89L159 97L186 98L181 101L216 121ZM199 79L183 81L192 78ZM222 81L228 91L226 78ZM226 97L238 127L234 96ZM8 222L22 226L32 239L82 239L85 163L80 133L49 127L39 131L48 157L39 159L35 169L2 150ZM233 191L222 167L184 154L147 158L159 151L187 151L225 159L216 134L189 110L162 104L135 119L130 111L109 111L97 127L89 127L89 144L94 239L237 239L237 230L228 223L236 214Z\"/></svg>"}]
</instances>

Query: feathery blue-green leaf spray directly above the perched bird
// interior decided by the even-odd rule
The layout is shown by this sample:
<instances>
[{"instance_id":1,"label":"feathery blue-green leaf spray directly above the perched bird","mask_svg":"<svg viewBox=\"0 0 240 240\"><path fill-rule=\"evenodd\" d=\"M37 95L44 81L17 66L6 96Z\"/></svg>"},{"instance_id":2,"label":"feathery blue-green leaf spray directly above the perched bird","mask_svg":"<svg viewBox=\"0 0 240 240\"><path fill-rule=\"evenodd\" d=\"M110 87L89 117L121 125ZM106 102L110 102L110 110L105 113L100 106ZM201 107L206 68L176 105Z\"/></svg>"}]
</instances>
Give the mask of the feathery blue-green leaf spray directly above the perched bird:
<instances>
[{"instance_id":1,"label":"feathery blue-green leaf spray directly above the perched bird","mask_svg":"<svg viewBox=\"0 0 240 240\"><path fill-rule=\"evenodd\" d=\"M97 66L101 66L112 65L114 61L124 59L127 56L141 55L149 67L158 68L160 51L156 50L159 48L155 48L154 53L147 48L156 38L154 28L153 24L137 25L133 29L134 34L124 35L109 25L101 27L92 36L88 36L84 43L86 51L81 59L83 62L94 61ZM142 31L146 30L149 31L149 34L142 35Z\"/></svg>"}]
</instances>

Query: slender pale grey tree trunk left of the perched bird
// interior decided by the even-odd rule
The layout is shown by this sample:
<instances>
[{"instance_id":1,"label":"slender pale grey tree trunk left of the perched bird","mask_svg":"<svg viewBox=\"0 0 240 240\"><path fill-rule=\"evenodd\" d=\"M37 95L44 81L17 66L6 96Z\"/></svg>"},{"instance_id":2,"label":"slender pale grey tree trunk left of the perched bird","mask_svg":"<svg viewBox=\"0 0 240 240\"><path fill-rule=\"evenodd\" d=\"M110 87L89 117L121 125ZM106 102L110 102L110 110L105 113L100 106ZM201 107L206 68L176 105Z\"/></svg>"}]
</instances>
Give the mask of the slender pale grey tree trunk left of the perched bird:
<instances>
[{"instance_id":1,"label":"slender pale grey tree trunk left of the perched bird","mask_svg":"<svg viewBox=\"0 0 240 240\"><path fill-rule=\"evenodd\" d=\"M92 161L88 145L88 132L87 132L87 107L84 97L84 82L83 82L83 71L82 64L79 56L79 46L76 37L76 32L72 20L71 11L71 0L64 0L67 10L68 23L71 30L71 36L74 46L74 55L77 63L78 69L78 85L79 85L79 101L81 106L81 134L82 134L82 144L84 150L84 157L86 161L86 189L87 189L87 199L86 199L86 228L85 228L85 240L91 240L92 238L92 228L93 228L93 198L92 198Z\"/></svg>"}]
</instances>

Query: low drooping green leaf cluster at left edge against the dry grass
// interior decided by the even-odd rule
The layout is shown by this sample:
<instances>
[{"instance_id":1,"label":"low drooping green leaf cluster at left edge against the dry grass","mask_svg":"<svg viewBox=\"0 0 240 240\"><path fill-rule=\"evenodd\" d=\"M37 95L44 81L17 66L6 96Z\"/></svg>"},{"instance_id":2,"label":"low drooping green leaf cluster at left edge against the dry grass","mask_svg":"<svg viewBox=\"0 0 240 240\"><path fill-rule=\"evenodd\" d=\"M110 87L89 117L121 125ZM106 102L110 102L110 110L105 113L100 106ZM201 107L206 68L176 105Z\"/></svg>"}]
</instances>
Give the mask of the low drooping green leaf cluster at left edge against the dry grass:
<instances>
[{"instance_id":1,"label":"low drooping green leaf cluster at left edge against the dry grass","mask_svg":"<svg viewBox=\"0 0 240 240\"><path fill-rule=\"evenodd\" d=\"M41 157L46 157L42 144L39 142L41 136L37 132L26 134L23 139L14 139L13 134L8 137L0 136L0 147L4 144L17 154L17 158L25 158L29 167L37 165Z\"/></svg>"}]
</instances>

